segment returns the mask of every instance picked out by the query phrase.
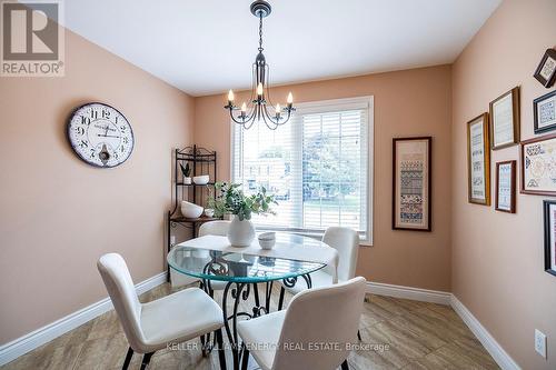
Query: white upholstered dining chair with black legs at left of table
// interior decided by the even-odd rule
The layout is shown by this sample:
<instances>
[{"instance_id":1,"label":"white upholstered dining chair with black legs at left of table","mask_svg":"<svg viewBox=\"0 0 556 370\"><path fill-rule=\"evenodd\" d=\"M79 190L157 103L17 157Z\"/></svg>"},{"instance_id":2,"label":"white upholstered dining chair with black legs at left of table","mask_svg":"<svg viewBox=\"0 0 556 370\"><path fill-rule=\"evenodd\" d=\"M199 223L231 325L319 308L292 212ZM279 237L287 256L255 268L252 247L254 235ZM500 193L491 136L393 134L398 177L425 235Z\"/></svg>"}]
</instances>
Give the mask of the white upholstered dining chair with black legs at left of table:
<instances>
[{"instance_id":1,"label":"white upholstered dining chair with black legs at left of table","mask_svg":"<svg viewBox=\"0 0 556 370\"><path fill-rule=\"evenodd\" d=\"M202 290L189 288L141 303L120 254L102 256L97 268L129 342L122 369L128 368L133 352L143 353L141 369L145 369L152 354L168 343L181 343L211 332L217 338L220 368L226 369L222 310Z\"/></svg>"}]
</instances>

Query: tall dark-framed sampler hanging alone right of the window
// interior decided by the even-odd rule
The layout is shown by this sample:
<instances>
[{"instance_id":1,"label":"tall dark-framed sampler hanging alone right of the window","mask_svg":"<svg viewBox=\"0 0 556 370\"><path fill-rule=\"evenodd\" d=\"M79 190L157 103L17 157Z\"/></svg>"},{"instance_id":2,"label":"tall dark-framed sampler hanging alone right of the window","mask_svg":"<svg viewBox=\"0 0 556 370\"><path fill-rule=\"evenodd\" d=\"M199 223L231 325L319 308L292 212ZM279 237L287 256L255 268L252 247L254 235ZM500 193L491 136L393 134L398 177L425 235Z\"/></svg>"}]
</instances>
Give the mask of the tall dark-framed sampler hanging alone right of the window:
<instances>
[{"instance_id":1,"label":"tall dark-framed sampler hanging alone right of the window","mask_svg":"<svg viewBox=\"0 0 556 370\"><path fill-rule=\"evenodd\" d=\"M393 141L393 213L395 230L431 230L433 138Z\"/></svg>"}]
</instances>

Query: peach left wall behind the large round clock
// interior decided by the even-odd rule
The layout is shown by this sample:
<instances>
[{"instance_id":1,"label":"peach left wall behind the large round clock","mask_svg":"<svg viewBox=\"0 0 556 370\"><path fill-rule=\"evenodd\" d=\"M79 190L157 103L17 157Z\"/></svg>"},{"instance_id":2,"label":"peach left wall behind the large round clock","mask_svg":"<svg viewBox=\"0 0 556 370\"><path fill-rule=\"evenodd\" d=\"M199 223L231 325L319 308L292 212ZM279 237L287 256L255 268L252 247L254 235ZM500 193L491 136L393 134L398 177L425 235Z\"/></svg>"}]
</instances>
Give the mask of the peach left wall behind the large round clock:
<instances>
[{"instance_id":1,"label":"peach left wall behind the large round clock","mask_svg":"<svg viewBox=\"0 0 556 370\"><path fill-rule=\"evenodd\" d=\"M136 282L166 269L172 149L192 142L193 100L66 32L66 77L0 78L0 344L107 297L96 260L117 251ZM115 169L79 160L71 110L101 101L136 147Z\"/></svg>"}]
</instances>

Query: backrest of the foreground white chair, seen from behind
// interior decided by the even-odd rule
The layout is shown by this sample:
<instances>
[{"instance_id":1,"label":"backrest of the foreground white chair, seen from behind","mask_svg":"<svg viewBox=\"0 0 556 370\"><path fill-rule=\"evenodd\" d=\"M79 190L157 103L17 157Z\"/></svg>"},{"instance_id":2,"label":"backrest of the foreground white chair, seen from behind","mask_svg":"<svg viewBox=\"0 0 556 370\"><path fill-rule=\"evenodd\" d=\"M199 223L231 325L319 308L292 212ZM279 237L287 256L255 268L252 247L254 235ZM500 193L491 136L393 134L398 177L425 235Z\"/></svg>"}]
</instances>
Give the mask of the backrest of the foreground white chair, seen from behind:
<instances>
[{"instance_id":1,"label":"backrest of the foreground white chair, seen from behind","mask_svg":"<svg viewBox=\"0 0 556 370\"><path fill-rule=\"evenodd\" d=\"M307 289L286 311L272 369L337 369L357 341L365 299L365 278ZM338 348L315 346L330 343ZM302 349L302 350L300 350Z\"/></svg>"}]
</instances>

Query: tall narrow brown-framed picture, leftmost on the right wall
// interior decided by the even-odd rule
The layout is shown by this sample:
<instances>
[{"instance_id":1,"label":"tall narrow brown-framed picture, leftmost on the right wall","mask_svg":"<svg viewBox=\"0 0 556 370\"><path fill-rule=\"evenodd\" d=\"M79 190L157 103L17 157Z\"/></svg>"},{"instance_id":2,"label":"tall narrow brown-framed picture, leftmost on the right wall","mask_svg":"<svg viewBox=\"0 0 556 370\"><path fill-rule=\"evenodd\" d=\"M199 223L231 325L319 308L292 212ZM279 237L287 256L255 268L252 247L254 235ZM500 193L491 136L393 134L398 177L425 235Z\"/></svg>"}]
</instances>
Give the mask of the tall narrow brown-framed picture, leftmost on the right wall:
<instances>
[{"instance_id":1,"label":"tall narrow brown-framed picture, leftmost on the right wall","mask_svg":"<svg viewBox=\"0 0 556 370\"><path fill-rule=\"evenodd\" d=\"M469 203L490 206L488 113L467 122L467 189Z\"/></svg>"}]
</instances>

